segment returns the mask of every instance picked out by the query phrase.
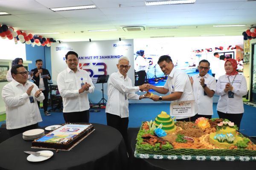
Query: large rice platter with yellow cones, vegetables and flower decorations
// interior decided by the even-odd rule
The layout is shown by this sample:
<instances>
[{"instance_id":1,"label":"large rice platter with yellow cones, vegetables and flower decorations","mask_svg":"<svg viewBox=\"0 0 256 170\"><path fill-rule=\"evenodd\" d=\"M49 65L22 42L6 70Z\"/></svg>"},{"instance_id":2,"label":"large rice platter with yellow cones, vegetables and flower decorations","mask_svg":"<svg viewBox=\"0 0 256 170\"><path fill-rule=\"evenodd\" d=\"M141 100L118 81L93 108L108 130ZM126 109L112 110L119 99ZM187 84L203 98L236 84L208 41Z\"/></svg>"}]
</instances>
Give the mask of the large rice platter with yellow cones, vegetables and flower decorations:
<instances>
[{"instance_id":1,"label":"large rice platter with yellow cones, vegetables and flower decorations","mask_svg":"<svg viewBox=\"0 0 256 170\"><path fill-rule=\"evenodd\" d=\"M167 116L160 115L154 122L142 123L134 152L136 158L256 161L256 144L227 119L178 121L175 130L168 131L163 128L164 122L159 122L159 118L163 121Z\"/></svg>"}]
</instances>

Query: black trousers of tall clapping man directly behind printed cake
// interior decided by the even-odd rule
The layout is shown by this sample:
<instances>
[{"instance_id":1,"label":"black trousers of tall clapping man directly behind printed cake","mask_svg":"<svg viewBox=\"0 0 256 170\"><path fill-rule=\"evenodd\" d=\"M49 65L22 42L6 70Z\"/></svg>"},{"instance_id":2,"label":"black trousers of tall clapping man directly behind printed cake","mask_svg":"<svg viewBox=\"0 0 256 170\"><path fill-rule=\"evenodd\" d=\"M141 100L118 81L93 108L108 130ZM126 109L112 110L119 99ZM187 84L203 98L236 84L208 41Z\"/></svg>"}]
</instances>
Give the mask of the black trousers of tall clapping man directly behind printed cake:
<instances>
[{"instance_id":1,"label":"black trousers of tall clapping man directly behind printed cake","mask_svg":"<svg viewBox=\"0 0 256 170\"><path fill-rule=\"evenodd\" d=\"M89 110L69 113L63 112L63 116L66 123L88 123L90 113Z\"/></svg>"}]
</instances>

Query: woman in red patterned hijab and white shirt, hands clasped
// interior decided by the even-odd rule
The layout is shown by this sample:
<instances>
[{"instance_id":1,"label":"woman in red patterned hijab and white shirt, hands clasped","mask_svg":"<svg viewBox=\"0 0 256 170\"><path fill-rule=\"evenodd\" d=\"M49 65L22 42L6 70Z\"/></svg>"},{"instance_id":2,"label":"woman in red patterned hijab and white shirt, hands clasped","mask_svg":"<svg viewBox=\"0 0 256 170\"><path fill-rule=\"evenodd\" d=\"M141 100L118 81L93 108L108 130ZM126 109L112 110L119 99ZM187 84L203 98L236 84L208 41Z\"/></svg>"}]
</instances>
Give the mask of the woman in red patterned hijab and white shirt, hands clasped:
<instances>
[{"instance_id":1,"label":"woman in red patterned hijab and white shirt, hands clasped","mask_svg":"<svg viewBox=\"0 0 256 170\"><path fill-rule=\"evenodd\" d=\"M235 59L227 59L224 65L226 74L218 78L216 94L220 95L217 105L219 118L229 119L240 128L244 113L242 96L247 94L245 77L236 71Z\"/></svg>"}]
</instances>

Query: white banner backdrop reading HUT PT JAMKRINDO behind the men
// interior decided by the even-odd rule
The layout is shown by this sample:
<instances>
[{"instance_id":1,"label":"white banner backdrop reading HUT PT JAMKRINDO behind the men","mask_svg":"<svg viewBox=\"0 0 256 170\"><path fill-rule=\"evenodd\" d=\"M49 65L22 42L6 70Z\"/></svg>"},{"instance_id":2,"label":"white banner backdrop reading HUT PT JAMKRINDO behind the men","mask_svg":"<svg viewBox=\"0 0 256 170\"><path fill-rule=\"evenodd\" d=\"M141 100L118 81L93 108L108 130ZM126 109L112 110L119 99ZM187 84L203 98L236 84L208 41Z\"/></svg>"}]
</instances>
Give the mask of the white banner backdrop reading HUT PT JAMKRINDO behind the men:
<instances>
[{"instance_id":1,"label":"white banner backdrop reading HUT PT JAMKRINDO behind the men","mask_svg":"<svg viewBox=\"0 0 256 170\"><path fill-rule=\"evenodd\" d=\"M102 84L95 84L99 75L112 74L117 71L116 64L122 56L130 58L131 68L128 77L134 84L134 45L133 40L106 40L92 42L61 42L51 46L52 82L57 84L58 74L67 68L65 54L75 51L79 56L78 68L88 71L95 91L89 94L92 103L98 103L102 99ZM107 83L104 83L104 97L107 99Z\"/></svg>"}]
</instances>

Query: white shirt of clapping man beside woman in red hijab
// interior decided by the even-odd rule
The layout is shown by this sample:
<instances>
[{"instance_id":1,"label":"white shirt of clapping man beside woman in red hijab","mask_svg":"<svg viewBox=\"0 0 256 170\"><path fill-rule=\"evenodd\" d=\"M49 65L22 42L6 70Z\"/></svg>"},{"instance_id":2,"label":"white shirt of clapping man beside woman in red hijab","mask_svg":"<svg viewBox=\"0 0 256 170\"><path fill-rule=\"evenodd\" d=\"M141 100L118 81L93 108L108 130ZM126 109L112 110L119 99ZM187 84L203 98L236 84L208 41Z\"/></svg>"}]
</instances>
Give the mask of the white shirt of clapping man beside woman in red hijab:
<instances>
[{"instance_id":1,"label":"white shirt of clapping man beside woman in red hijab","mask_svg":"<svg viewBox=\"0 0 256 170\"><path fill-rule=\"evenodd\" d=\"M193 82L193 91L195 96L195 103L198 106L198 114L200 115L213 115L212 111L212 97L205 95L204 88L200 84L200 79L202 78L199 74L192 76ZM214 77L208 73L203 77L204 84L207 85L212 91L216 91L216 80Z\"/></svg>"}]
</instances>

